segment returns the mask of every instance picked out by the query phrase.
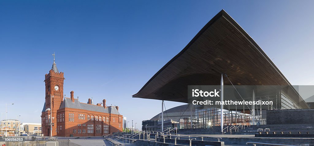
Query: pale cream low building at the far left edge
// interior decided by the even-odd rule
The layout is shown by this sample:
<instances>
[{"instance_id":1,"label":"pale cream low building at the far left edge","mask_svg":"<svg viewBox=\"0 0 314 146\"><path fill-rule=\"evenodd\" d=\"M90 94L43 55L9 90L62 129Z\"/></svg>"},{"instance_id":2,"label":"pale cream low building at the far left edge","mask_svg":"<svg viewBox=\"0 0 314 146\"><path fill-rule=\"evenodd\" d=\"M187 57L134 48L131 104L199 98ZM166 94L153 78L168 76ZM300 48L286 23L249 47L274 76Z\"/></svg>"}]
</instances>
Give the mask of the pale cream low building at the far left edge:
<instances>
[{"instance_id":1,"label":"pale cream low building at the far left edge","mask_svg":"<svg viewBox=\"0 0 314 146\"><path fill-rule=\"evenodd\" d=\"M9 136L23 132L23 129L20 128L20 121L17 119L2 120L0 124L0 135L5 135L6 131Z\"/></svg>"}]
</instances>

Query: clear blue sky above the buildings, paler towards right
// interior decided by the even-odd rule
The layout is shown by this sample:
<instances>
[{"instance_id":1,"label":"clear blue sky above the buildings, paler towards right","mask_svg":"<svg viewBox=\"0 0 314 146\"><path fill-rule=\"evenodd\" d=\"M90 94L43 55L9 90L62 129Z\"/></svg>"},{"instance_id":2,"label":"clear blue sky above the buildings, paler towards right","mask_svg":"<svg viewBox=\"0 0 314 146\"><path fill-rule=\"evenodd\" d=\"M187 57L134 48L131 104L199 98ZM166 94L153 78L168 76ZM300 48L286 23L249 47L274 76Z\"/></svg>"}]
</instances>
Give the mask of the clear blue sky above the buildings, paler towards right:
<instances>
[{"instance_id":1,"label":"clear blue sky above the buildings, paler towards right","mask_svg":"<svg viewBox=\"0 0 314 146\"><path fill-rule=\"evenodd\" d=\"M118 105L137 126L161 101L131 98L221 9L291 84L314 84L313 1L0 1L0 111L41 122L56 52L64 94ZM166 108L183 103L165 102ZM5 117L5 114L3 114Z\"/></svg>"}]
</instances>

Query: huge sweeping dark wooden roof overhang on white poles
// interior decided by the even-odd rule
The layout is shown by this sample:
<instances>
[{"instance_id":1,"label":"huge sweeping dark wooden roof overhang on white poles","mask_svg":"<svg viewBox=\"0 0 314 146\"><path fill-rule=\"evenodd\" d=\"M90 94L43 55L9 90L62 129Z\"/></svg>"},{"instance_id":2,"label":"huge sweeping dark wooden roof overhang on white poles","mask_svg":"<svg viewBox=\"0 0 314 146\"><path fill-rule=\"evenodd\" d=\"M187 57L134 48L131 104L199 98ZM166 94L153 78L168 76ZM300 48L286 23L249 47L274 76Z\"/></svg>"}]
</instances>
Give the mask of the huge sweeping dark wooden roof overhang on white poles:
<instances>
[{"instance_id":1,"label":"huge sweeping dark wooden roof overhang on white poles","mask_svg":"<svg viewBox=\"0 0 314 146\"><path fill-rule=\"evenodd\" d=\"M133 95L187 103L188 85L286 85L300 107L308 105L257 43L224 10ZM230 85L225 78L225 85ZM292 92L291 92L292 90Z\"/></svg>"}]
</instances>

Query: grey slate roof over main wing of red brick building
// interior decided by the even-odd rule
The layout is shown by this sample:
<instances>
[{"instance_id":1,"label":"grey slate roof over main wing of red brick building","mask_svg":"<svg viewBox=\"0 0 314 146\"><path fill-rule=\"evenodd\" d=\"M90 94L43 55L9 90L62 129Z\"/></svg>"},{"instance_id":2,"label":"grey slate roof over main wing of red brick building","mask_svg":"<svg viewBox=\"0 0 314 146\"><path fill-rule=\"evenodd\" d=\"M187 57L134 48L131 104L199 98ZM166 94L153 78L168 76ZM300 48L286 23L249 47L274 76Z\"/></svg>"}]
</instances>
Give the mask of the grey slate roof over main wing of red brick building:
<instances>
[{"instance_id":1,"label":"grey slate roof over main wing of red brick building","mask_svg":"<svg viewBox=\"0 0 314 146\"><path fill-rule=\"evenodd\" d=\"M116 108L111 108L111 106L105 109L103 106L81 103L78 101L78 99L74 99L74 102L72 102L71 98L65 98L63 100L63 103L60 106L60 109L62 108L82 109L82 110L87 110L87 111L97 111L97 112L120 115L120 113L116 110Z\"/></svg>"}]
</instances>

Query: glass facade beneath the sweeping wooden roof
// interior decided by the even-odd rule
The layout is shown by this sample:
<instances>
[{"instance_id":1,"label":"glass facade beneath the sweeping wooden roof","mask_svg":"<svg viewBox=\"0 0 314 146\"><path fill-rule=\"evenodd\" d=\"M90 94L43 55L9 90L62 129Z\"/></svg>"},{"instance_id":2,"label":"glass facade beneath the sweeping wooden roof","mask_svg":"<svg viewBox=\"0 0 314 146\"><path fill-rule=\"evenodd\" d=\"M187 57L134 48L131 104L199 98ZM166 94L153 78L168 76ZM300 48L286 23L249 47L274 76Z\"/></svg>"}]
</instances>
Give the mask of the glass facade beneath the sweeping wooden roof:
<instances>
[{"instance_id":1,"label":"glass facade beneath the sweeping wooden roof","mask_svg":"<svg viewBox=\"0 0 314 146\"><path fill-rule=\"evenodd\" d=\"M252 96L244 98L252 101ZM271 95L255 97L255 101L273 101L272 105L255 105L254 121L252 105L224 105L224 125L256 125L266 123L266 111L275 109L300 109L297 102L293 102L283 90L276 90ZM220 126L221 110L220 105L197 105L195 107L195 119L193 118L192 128L209 128ZM185 118L184 127L191 128L191 118Z\"/></svg>"}]
</instances>

